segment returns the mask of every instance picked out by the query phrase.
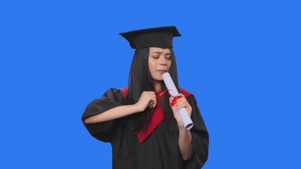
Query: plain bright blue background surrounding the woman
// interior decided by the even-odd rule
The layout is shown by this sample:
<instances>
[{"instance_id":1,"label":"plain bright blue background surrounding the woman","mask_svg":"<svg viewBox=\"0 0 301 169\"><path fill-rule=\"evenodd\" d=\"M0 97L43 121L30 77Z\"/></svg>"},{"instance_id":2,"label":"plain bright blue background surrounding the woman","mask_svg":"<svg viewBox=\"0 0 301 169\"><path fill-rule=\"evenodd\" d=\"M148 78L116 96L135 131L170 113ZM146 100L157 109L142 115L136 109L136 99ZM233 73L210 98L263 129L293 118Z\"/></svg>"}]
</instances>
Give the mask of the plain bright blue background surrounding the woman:
<instances>
[{"instance_id":1,"label":"plain bright blue background surrounding the woman","mask_svg":"<svg viewBox=\"0 0 301 169\"><path fill-rule=\"evenodd\" d=\"M166 25L210 134L203 168L301 168L300 16L297 1L2 1L0 168L111 168L81 115L127 86L118 33Z\"/></svg>"}]
</instances>

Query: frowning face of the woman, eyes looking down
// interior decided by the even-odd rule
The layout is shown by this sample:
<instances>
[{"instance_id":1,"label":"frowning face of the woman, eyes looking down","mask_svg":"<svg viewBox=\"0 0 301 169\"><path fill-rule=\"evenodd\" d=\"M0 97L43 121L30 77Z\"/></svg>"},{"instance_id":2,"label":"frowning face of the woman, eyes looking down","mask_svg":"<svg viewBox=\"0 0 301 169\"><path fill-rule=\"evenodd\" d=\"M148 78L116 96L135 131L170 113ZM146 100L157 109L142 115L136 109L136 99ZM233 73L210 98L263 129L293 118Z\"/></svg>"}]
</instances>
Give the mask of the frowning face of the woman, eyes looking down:
<instances>
[{"instance_id":1,"label":"frowning face of the woman, eyes looking down","mask_svg":"<svg viewBox=\"0 0 301 169\"><path fill-rule=\"evenodd\" d=\"M168 72L171 65L169 48L149 47L148 67L154 80L163 80L163 73Z\"/></svg>"}]
</instances>

